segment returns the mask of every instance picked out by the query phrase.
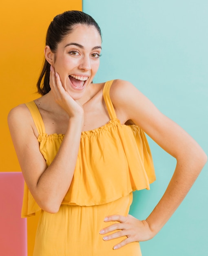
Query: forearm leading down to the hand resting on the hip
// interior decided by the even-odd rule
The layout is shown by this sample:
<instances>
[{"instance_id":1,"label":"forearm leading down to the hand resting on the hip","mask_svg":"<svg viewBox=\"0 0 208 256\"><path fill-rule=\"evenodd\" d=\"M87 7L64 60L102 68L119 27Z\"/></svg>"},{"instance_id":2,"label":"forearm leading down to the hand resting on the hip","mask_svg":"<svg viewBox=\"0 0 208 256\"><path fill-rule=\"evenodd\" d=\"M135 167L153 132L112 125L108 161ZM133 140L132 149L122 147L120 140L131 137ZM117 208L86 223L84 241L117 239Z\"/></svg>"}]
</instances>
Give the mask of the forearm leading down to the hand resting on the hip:
<instances>
[{"instance_id":1,"label":"forearm leading down to the hand resting on the hip","mask_svg":"<svg viewBox=\"0 0 208 256\"><path fill-rule=\"evenodd\" d=\"M205 163L206 155L202 150L198 157L193 155L177 161L175 172L163 197L146 219L153 236L162 229L184 200Z\"/></svg>"}]
</instances>

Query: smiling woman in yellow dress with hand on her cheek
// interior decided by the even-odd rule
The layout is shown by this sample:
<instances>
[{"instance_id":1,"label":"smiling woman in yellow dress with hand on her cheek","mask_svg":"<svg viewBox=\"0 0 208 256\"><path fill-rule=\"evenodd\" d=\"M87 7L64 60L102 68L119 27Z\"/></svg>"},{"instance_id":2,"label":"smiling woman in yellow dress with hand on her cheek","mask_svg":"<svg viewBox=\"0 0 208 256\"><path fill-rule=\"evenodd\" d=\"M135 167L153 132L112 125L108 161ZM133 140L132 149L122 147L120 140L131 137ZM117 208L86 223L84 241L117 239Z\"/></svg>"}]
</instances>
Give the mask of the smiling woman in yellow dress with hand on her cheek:
<instances>
[{"instance_id":1,"label":"smiling woman in yellow dress with hand on her cheek","mask_svg":"<svg viewBox=\"0 0 208 256\"><path fill-rule=\"evenodd\" d=\"M25 179L22 216L41 210L33 256L139 256L206 163L200 146L131 83L92 83L101 31L80 11L56 16L38 80L42 97L9 113ZM146 132L177 159L146 220L128 215L132 191L155 180Z\"/></svg>"}]
</instances>

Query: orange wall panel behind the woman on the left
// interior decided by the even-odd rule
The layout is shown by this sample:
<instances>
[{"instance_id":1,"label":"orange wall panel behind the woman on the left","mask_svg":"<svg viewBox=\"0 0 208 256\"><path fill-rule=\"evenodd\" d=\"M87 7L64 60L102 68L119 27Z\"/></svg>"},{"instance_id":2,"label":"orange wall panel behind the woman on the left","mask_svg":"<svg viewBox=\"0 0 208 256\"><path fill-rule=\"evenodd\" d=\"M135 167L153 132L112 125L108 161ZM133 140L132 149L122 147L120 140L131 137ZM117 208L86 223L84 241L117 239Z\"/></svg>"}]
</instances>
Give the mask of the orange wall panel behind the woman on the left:
<instances>
[{"instance_id":1,"label":"orange wall panel behind the woman on the left","mask_svg":"<svg viewBox=\"0 0 208 256\"><path fill-rule=\"evenodd\" d=\"M53 17L82 10L82 0L2 1L0 8L0 171L21 171L7 126L7 115L20 103L40 97L36 82L44 59L46 30ZM32 255L38 217L28 219L28 256Z\"/></svg>"}]
</instances>

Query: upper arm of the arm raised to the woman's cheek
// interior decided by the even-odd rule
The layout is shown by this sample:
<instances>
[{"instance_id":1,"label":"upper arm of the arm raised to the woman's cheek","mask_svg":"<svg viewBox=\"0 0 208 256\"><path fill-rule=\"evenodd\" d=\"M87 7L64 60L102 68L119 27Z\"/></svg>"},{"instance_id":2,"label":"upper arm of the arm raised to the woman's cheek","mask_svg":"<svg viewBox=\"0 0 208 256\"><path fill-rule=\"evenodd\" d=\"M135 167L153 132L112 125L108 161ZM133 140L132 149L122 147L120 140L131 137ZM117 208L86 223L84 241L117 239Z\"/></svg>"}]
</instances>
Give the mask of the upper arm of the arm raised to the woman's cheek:
<instances>
[{"instance_id":1,"label":"upper arm of the arm raised to the woman's cheek","mask_svg":"<svg viewBox=\"0 0 208 256\"><path fill-rule=\"evenodd\" d=\"M25 104L9 112L8 125L24 180L32 193L47 166L39 150L33 119Z\"/></svg>"}]
</instances>

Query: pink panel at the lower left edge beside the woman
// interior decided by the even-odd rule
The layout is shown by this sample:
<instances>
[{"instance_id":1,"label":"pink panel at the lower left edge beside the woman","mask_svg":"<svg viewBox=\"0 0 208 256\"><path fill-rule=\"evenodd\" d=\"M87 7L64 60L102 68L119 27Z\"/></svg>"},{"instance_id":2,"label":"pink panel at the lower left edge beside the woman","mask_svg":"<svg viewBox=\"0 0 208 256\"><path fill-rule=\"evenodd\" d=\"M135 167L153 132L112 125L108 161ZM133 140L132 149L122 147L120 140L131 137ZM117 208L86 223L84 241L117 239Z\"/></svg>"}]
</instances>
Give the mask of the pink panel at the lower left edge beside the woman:
<instances>
[{"instance_id":1,"label":"pink panel at the lower left edge beside the woman","mask_svg":"<svg viewBox=\"0 0 208 256\"><path fill-rule=\"evenodd\" d=\"M27 219L21 218L22 173L0 172L0 255L27 256Z\"/></svg>"}]
</instances>

